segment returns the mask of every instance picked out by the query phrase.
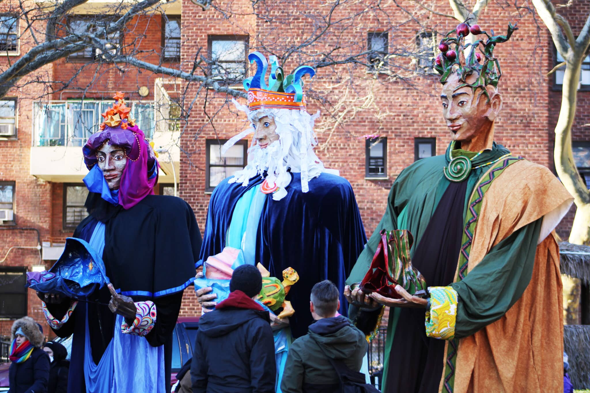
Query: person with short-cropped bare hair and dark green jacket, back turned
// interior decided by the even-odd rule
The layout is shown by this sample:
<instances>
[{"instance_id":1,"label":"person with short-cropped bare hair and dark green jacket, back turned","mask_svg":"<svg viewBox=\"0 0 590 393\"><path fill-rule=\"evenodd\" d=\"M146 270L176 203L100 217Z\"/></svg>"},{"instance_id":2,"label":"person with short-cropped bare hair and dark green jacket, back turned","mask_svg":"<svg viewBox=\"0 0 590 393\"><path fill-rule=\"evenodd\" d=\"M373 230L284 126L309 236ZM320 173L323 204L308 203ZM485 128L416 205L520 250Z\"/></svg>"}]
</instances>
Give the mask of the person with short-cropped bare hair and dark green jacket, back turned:
<instances>
[{"instance_id":1,"label":"person with short-cropped bare hair and dark green jacket, back turned","mask_svg":"<svg viewBox=\"0 0 590 393\"><path fill-rule=\"evenodd\" d=\"M313 286L309 303L315 322L289 349L281 391L339 392L339 377L327 356L358 372L367 351L365 335L348 318L336 315L339 292L330 280Z\"/></svg>"}]
</instances>

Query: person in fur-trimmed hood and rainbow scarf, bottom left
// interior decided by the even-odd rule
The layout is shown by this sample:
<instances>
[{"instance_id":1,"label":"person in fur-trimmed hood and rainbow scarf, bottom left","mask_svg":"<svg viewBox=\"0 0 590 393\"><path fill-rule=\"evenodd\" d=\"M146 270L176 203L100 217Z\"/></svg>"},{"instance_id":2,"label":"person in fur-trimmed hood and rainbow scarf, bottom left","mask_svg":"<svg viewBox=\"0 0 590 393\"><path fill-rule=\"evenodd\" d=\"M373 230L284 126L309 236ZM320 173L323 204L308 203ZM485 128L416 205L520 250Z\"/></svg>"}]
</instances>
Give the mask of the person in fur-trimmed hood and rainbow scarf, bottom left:
<instances>
[{"instance_id":1,"label":"person in fur-trimmed hood and rainbow scarf, bottom left","mask_svg":"<svg viewBox=\"0 0 590 393\"><path fill-rule=\"evenodd\" d=\"M41 349L43 333L30 316L12 324L8 369L9 393L45 393L49 379L49 356Z\"/></svg>"}]
</instances>

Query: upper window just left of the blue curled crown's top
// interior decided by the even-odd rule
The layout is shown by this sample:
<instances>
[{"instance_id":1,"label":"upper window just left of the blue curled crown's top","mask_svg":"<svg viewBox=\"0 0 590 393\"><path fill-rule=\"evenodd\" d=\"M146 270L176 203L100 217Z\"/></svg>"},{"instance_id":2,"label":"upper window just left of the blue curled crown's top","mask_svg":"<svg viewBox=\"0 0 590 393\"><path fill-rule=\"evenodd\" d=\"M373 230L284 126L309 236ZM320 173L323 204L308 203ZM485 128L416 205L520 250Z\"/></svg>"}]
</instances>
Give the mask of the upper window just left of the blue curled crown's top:
<instances>
[{"instance_id":1,"label":"upper window just left of the blue curled crown's top","mask_svg":"<svg viewBox=\"0 0 590 393\"><path fill-rule=\"evenodd\" d=\"M211 77L241 82L246 77L248 36L209 35Z\"/></svg>"}]
</instances>

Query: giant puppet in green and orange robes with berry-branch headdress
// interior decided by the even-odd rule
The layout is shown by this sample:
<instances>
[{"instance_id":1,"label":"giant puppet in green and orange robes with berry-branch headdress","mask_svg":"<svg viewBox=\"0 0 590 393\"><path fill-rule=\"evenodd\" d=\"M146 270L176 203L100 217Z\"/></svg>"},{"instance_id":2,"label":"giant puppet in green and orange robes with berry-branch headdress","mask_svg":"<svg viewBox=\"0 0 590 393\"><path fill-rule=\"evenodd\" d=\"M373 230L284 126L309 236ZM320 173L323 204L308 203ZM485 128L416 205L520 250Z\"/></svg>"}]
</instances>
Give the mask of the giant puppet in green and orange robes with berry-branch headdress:
<instances>
[{"instance_id":1,"label":"giant puppet in green and orange robes with berry-branch headdress","mask_svg":"<svg viewBox=\"0 0 590 393\"><path fill-rule=\"evenodd\" d=\"M391 307L384 392L562 389L553 229L572 197L549 169L494 141L502 97L493 51L515 29L493 35L463 23L442 39L437 105L451 141L399 174L347 279L365 332Z\"/></svg>"}]
</instances>

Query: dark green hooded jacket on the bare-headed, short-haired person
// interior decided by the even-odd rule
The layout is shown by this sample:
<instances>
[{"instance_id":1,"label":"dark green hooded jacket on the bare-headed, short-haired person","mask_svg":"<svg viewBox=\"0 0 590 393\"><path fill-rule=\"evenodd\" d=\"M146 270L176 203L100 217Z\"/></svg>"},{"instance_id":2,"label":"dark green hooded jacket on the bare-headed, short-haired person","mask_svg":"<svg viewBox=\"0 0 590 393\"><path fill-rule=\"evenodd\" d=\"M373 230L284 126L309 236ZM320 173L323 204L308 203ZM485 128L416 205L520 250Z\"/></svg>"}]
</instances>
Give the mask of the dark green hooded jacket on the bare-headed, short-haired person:
<instances>
[{"instance_id":1,"label":"dark green hooded jacket on the bare-headed, short-haired person","mask_svg":"<svg viewBox=\"0 0 590 393\"><path fill-rule=\"evenodd\" d=\"M344 316L320 319L289 348L281 381L283 393L332 393L340 389L335 369L311 336L332 359L360 371L367 352L365 335Z\"/></svg>"}]
</instances>

